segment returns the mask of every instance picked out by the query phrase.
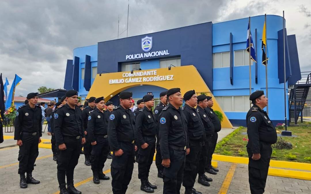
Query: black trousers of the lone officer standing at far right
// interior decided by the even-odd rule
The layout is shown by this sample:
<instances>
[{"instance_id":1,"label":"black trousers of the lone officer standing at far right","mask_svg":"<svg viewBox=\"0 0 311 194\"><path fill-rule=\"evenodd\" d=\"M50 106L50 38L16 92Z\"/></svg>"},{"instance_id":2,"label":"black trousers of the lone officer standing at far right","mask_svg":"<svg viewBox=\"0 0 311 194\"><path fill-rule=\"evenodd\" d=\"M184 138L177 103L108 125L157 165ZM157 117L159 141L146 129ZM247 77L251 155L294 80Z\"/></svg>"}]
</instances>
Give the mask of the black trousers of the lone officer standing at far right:
<instances>
[{"instance_id":1,"label":"black trousers of the lone officer standing at far right","mask_svg":"<svg viewBox=\"0 0 311 194\"><path fill-rule=\"evenodd\" d=\"M269 143L260 142L260 159L253 160L253 152L247 148L248 153L248 182L252 194L265 192L268 169L272 154L272 147Z\"/></svg>"}]
</instances>

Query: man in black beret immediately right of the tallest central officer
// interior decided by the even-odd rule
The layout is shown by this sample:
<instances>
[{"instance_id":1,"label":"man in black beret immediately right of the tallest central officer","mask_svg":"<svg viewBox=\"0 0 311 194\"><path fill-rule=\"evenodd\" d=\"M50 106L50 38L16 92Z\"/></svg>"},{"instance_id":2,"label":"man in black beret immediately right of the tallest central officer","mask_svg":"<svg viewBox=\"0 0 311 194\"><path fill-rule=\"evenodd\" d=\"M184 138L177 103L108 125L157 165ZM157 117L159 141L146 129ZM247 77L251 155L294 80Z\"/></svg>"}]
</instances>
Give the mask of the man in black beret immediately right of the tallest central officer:
<instances>
[{"instance_id":1,"label":"man in black beret immediately right of the tallest central officer","mask_svg":"<svg viewBox=\"0 0 311 194\"><path fill-rule=\"evenodd\" d=\"M185 105L182 110L185 113L188 126L188 144L187 148L190 149L189 155L186 156L185 172L183 174L183 186L186 191L185 194L199 194L193 186L198 173L199 160L201 155L202 146L205 140L205 130L202 120L195 106L197 106L197 95L194 90L186 92L183 96Z\"/></svg>"}]
</instances>

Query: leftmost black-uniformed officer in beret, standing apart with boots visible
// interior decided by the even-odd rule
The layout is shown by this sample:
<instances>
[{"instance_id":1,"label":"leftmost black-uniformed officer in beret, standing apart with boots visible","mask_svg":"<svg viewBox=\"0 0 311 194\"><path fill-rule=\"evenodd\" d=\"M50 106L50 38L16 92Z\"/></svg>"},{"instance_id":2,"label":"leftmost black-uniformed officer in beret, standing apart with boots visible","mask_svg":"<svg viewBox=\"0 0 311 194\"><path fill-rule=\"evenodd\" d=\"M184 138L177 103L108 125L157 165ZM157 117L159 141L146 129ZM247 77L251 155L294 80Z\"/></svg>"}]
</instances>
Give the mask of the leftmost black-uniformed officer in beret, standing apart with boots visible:
<instances>
[{"instance_id":1,"label":"leftmost black-uniformed officer in beret, standing apart with boots visible","mask_svg":"<svg viewBox=\"0 0 311 194\"><path fill-rule=\"evenodd\" d=\"M27 105L17 110L14 120L14 140L19 146L18 161L20 174L20 187L27 188L27 183L39 184L40 181L32 177L35 161L39 155L38 144L41 142L42 136L42 111L39 106L35 106L38 102L39 93L29 93ZM27 176L25 177L25 173Z\"/></svg>"}]
</instances>

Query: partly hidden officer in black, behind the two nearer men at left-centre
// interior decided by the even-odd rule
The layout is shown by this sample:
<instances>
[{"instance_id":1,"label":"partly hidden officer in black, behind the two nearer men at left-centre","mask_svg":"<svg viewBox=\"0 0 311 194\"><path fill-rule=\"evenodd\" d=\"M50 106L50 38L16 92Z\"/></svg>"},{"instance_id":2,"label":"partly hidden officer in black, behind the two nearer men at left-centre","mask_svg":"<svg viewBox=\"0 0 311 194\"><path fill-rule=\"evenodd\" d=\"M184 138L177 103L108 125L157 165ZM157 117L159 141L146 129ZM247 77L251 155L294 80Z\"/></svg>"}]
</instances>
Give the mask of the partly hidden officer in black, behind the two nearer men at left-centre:
<instances>
[{"instance_id":1,"label":"partly hidden officer in black, behind the two nearer men at left-centre","mask_svg":"<svg viewBox=\"0 0 311 194\"><path fill-rule=\"evenodd\" d=\"M90 97L88 101L88 106L82 111L82 121L83 121L83 130L86 135L86 143L83 145L83 154L85 157L85 162L84 164L87 166L91 166L90 162L90 156L91 156L91 151L92 151L92 146L91 142L89 140L89 137L87 135L86 129L87 129L87 119L89 115L91 114L92 111L95 110L95 97Z\"/></svg>"}]
</instances>

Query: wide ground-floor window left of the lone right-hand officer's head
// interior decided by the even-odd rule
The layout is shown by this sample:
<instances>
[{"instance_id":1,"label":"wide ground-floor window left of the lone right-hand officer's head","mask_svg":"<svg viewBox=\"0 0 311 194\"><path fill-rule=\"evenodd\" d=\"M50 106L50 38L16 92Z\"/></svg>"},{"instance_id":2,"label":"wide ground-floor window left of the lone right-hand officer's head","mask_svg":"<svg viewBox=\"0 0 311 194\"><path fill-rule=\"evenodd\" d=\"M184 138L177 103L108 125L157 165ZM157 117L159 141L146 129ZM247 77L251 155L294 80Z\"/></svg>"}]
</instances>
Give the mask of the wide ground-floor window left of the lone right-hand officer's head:
<instances>
[{"instance_id":1,"label":"wide ground-floor window left of the lone right-hand officer's head","mask_svg":"<svg viewBox=\"0 0 311 194\"><path fill-rule=\"evenodd\" d=\"M216 96L215 98L225 112L247 112L249 110L249 96Z\"/></svg>"}]
</instances>

